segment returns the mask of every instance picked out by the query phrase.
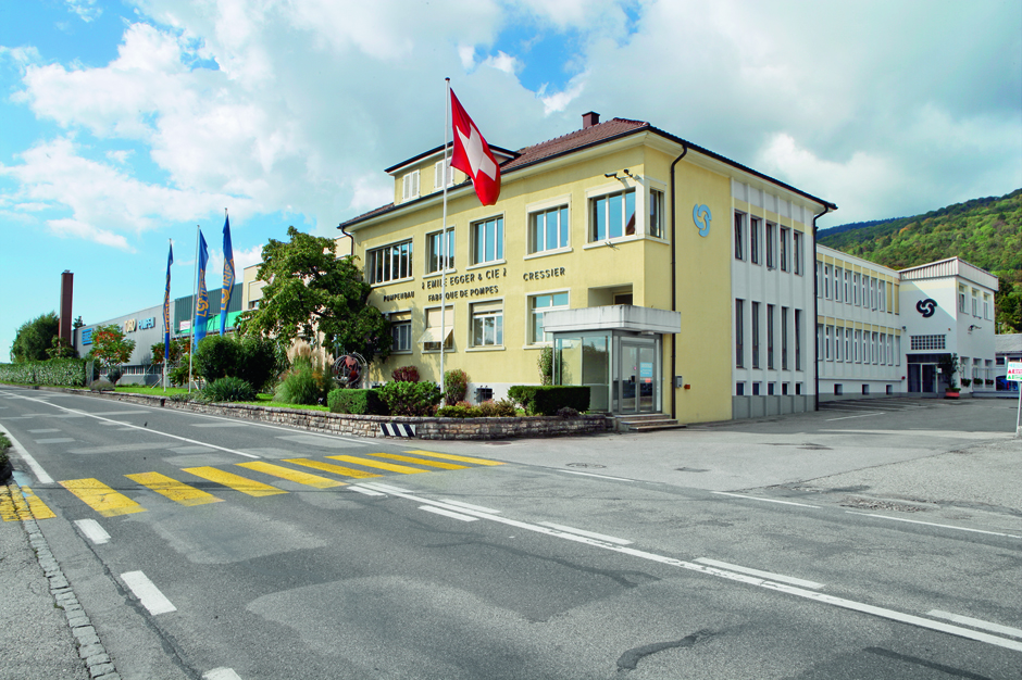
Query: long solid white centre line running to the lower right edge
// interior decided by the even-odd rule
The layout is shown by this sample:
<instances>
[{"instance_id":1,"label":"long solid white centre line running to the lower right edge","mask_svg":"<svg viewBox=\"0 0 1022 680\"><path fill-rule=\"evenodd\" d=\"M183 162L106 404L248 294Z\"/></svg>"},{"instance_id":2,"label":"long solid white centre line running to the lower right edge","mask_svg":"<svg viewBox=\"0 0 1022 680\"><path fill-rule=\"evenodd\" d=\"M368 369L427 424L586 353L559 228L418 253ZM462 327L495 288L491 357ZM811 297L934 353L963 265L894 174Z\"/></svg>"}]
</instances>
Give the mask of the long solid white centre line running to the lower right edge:
<instances>
[{"instance_id":1,"label":"long solid white centre line running to the lower right edge","mask_svg":"<svg viewBox=\"0 0 1022 680\"><path fill-rule=\"evenodd\" d=\"M394 493L394 495L414 501L416 503L423 503L426 505L438 505L436 501L431 501L428 499L423 499L410 493ZM893 621L898 621L901 624L908 624L910 626L918 626L919 628L925 628L928 630L935 630L938 632L945 632L950 635L957 635L959 638L965 638L969 640L975 640L977 642L983 642L986 644L996 645L999 647L1005 647L1008 650L1014 650L1017 652L1022 652L1022 642L1015 640L1008 640L1006 638L998 638L997 635L992 635L988 633L971 630L968 628L962 628L961 626L954 626L951 624L944 624L942 621L935 621L933 619L923 618L921 616L914 616L912 614L903 614L901 612L896 612L894 609L887 609L885 607L877 607L870 604L864 604L861 602L856 602L853 600L846 600L844 597L835 597L834 595L827 595L826 593L820 593L813 590L806 590L803 588L798 588L796 585L790 585L788 583L781 583L771 579L762 579L753 576L746 576L744 574L738 574L736 571L728 571L726 569L719 569L711 567L709 565L701 565L695 562L685 562L683 559L676 559L674 557L668 557L665 555L658 555L656 553L649 553L646 551L637 550L634 547L628 547L626 545L615 545L607 541L600 541L597 539L590 539L584 536L578 536L576 533L569 533L566 531L560 531L551 527L544 527L541 525L534 525L526 521L519 521L516 519L510 519L508 517L500 517L499 515L488 515L486 513L476 513L475 511L466 509L465 514L476 515L481 519L489 519L490 521L496 521L498 524L508 525L511 527L518 527L526 531L535 531L537 533L545 533L547 536L565 539L569 541L574 541L576 543L584 543L586 545L591 545L594 547L601 547L603 550L609 550L612 552L621 553L624 555L631 555L633 557L638 557L640 559L648 559L650 562L657 562L659 564L665 564L669 566L680 567L682 569L688 569L690 571L698 571L708 576L715 576L719 578L727 579L731 581L737 581L739 583L746 583L748 585L755 585L758 588L764 588L766 590L773 590L776 592L787 593L796 597L803 597L806 600L812 600L814 602L820 602L822 604L828 604L835 607L840 607L843 609L849 609L852 612L861 612L863 614L869 614L880 618L885 618Z\"/></svg>"}]
</instances>

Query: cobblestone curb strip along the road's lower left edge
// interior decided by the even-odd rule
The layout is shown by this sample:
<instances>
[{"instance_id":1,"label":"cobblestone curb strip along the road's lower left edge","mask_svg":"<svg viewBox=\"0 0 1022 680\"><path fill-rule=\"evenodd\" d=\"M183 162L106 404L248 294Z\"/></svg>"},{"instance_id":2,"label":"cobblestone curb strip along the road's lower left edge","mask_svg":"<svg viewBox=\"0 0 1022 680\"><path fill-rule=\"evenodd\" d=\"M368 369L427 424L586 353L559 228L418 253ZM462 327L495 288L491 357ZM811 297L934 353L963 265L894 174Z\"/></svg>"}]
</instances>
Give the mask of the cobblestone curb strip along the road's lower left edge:
<instances>
[{"instance_id":1,"label":"cobblestone curb strip along the road's lower left edge","mask_svg":"<svg viewBox=\"0 0 1022 680\"><path fill-rule=\"evenodd\" d=\"M11 498L23 498L21 487L15 482L11 481L7 483L7 488L11 492ZM27 515L28 511L26 509L24 513ZM22 513L20 513L20 515ZM77 645L78 657L82 658L86 668L88 668L89 677L94 680L121 680L121 673L117 672L113 662L110 659L107 647L103 646L99 634L97 634L96 629L92 627L91 620L83 608L82 603L78 602L78 597L75 595L71 582L67 580L67 577L64 576L64 571L61 569L57 558L53 557L53 553L50 551L50 544L47 542L46 537L42 536L39 525L30 515L22 516L21 522L22 529L24 529L25 533L28 536L28 544L36 553L36 561L39 563L39 567L42 569L42 574L46 576L47 582L49 583L50 595L53 597L53 606L63 609L64 616L67 618L71 634L74 637L75 644Z\"/></svg>"}]
</instances>

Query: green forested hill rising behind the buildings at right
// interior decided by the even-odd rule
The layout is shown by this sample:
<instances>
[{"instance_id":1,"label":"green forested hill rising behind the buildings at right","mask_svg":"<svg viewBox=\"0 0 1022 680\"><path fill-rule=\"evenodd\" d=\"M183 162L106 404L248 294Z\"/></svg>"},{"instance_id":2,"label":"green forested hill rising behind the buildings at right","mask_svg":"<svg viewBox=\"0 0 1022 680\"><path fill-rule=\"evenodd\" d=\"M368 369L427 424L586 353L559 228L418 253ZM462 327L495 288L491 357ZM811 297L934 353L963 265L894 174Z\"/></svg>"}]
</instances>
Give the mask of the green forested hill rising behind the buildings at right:
<instances>
[{"instance_id":1,"label":"green forested hill rising behind the buildings at right","mask_svg":"<svg viewBox=\"0 0 1022 680\"><path fill-rule=\"evenodd\" d=\"M957 255L1022 286L1022 189L924 215L822 229L818 240L893 269Z\"/></svg>"}]
</instances>

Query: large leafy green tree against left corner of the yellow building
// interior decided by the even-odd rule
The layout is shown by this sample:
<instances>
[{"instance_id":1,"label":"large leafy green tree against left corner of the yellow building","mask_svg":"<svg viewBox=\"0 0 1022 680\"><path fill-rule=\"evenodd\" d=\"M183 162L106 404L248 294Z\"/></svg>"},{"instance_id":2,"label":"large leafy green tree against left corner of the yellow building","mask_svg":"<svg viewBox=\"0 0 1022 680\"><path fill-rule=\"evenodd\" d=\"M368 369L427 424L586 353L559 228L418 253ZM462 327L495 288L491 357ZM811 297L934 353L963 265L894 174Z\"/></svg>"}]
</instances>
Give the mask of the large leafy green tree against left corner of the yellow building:
<instances>
[{"instance_id":1,"label":"large leafy green tree against left corner of the yellow building","mask_svg":"<svg viewBox=\"0 0 1022 680\"><path fill-rule=\"evenodd\" d=\"M306 338L323 345L358 352L365 357L390 353L387 319L371 306L371 287L357 259L337 257L332 239L288 227L290 242L263 247L257 277L266 285L256 310L239 319L242 333L286 340Z\"/></svg>"}]
</instances>

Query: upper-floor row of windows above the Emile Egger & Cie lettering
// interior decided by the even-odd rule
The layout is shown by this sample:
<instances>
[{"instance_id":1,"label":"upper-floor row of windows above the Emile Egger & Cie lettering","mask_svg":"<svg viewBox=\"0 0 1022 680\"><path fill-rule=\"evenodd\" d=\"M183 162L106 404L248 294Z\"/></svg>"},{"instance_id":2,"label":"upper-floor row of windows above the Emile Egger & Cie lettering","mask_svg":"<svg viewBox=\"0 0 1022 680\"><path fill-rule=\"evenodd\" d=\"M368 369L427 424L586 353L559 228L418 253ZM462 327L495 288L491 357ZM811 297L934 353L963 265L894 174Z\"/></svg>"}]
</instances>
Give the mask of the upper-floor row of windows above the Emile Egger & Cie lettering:
<instances>
[{"instance_id":1,"label":"upper-floor row of windows above the Emile Egger & Cie lettering","mask_svg":"<svg viewBox=\"0 0 1022 680\"><path fill-rule=\"evenodd\" d=\"M417 177L417 171L414 173ZM406 175L406 179L410 175ZM417 181L417 179L415 180ZM406 182L409 188L412 180ZM587 242L605 241L636 234L635 189L626 189L589 199ZM664 194L649 190L646 234L656 238L664 235ZM528 214L526 250L528 255L557 252L571 245L570 204L544 207ZM447 248L444 247L445 238ZM426 274L449 272L454 267L454 228L446 234L426 235ZM503 216L496 215L469 225L469 266L498 263L504 259ZM414 276L412 239L389 243L366 252L366 274L372 285L399 281Z\"/></svg>"}]
</instances>

